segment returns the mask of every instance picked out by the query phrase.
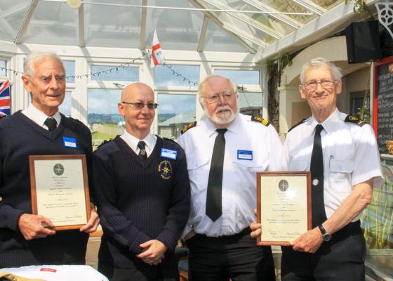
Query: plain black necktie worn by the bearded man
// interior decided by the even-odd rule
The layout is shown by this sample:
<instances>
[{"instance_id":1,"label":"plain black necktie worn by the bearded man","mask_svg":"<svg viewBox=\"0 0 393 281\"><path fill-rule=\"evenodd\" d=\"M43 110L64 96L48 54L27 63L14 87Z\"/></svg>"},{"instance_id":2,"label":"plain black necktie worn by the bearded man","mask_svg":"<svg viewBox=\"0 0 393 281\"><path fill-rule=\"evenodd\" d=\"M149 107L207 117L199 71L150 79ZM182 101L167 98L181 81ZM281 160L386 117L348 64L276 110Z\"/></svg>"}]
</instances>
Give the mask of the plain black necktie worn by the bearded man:
<instances>
[{"instance_id":1,"label":"plain black necktie worn by the bearded man","mask_svg":"<svg viewBox=\"0 0 393 281\"><path fill-rule=\"evenodd\" d=\"M211 218L212 221L216 221L222 214L222 166L224 165L225 155L224 133L227 129L217 129L216 131L218 135L214 141L206 195L206 216Z\"/></svg>"}]
</instances>

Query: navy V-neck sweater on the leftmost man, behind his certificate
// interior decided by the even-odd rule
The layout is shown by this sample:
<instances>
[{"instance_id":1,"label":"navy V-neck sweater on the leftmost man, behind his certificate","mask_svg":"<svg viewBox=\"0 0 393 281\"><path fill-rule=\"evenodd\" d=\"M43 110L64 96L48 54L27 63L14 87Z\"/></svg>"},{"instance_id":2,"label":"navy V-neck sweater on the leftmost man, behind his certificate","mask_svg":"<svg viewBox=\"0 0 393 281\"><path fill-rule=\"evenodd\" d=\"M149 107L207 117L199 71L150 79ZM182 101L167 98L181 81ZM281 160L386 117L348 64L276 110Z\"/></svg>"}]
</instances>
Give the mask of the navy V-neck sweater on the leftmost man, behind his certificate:
<instances>
[{"instance_id":1,"label":"navy V-neck sweater on the leftmost man, behind his certificate","mask_svg":"<svg viewBox=\"0 0 393 281\"><path fill-rule=\"evenodd\" d=\"M76 138L78 148L63 146ZM15 112L0 119L0 268L39 264L84 263L88 235L79 230L27 241L18 229L21 214L32 214L29 155L86 155L91 163L91 133L84 124L62 115L48 131Z\"/></svg>"}]
</instances>

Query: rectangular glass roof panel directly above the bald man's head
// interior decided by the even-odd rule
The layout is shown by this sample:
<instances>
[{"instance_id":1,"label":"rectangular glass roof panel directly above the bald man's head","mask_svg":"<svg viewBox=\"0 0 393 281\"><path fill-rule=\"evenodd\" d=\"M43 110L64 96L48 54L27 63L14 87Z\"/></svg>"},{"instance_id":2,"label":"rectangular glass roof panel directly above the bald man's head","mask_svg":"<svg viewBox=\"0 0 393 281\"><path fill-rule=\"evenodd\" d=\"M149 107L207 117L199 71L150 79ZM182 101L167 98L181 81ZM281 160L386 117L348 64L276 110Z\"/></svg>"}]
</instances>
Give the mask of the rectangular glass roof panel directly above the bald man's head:
<instances>
[{"instance_id":1,"label":"rectangular glass roof panel directly above the bald man's head","mask_svg":"<svg viewBox=\"0 0 393 281\"><path fill-rule=\"evenodd\" d=\"M95 0L84 4L85 43L89 46L138 48L140 43L140 0ZM119 4L119 6L116 6Z\"/></svg>"}]
</instances>

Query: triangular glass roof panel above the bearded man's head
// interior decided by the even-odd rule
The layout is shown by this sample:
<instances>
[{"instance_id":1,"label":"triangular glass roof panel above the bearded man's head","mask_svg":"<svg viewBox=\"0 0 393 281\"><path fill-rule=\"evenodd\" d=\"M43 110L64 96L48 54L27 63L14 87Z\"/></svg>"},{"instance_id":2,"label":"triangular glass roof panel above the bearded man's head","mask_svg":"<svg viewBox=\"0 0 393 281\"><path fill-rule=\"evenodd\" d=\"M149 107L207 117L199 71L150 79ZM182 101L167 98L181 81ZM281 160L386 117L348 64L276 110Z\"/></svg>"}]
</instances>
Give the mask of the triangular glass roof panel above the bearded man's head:
<instances>
[{"instance_id":1,"label":"triangular glass roof panel above the bearded man's head","mask_svg":"<svg viewBox=\"0 0 393 281\"><path fill-rule=\"evenodd\" d=\"M213 20L209 20L204 51L247 52L247 49L222 28L218 27Z\"/></svg>"}]
</instances>

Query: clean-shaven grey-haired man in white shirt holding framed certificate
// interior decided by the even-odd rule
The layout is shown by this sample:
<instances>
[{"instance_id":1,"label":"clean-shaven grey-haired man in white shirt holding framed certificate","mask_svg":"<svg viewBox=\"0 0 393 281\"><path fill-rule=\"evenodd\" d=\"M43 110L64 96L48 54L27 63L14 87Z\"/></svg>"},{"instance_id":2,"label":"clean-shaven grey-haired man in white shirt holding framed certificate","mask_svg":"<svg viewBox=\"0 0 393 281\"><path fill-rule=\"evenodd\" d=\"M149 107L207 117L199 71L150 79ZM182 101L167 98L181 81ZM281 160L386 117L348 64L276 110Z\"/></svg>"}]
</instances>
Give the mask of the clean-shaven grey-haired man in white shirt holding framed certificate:
<instances>
[{"instance_id":1,"label":"clean-shaven grey-haired man in white shirt holding framed certificate","mask_svg":"<svg viewBox=\"0 0 393 281\"><path fill-rule=\"evenodd\" d=\"M361 211L382 183L373 129L337 109L342 74L314 58L300 74L300 96L312 117L293 126L284 143L284 171L310 171L312 230L282 247L281 280L365 280ZM260 235L253 223L251 236ZM263 228L263 226L262 226Z\"/></svg>"}]
</instances>

